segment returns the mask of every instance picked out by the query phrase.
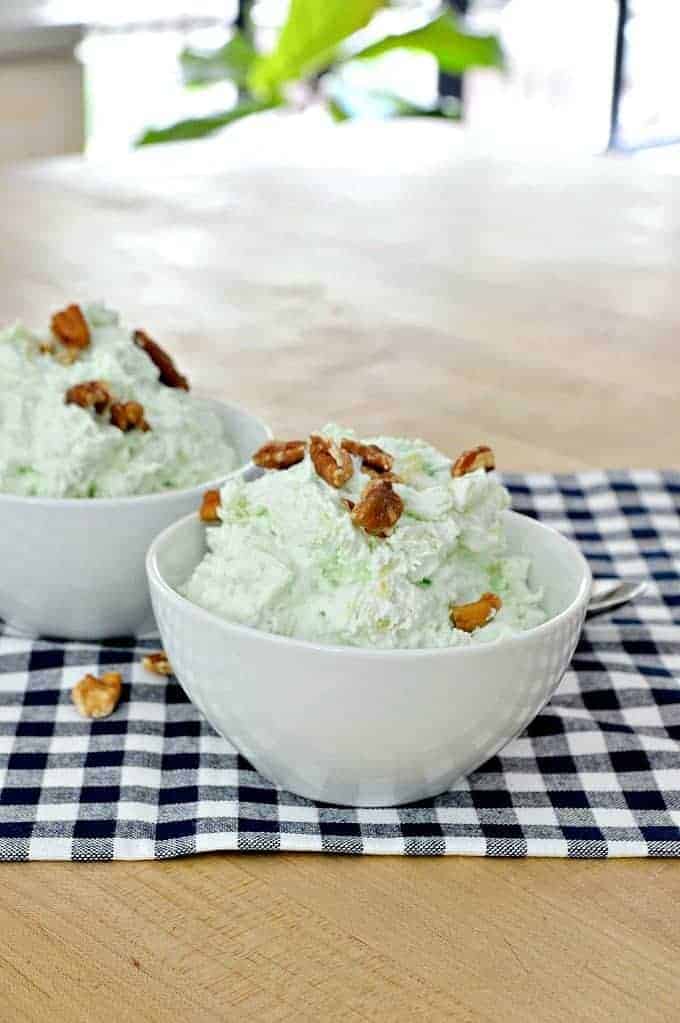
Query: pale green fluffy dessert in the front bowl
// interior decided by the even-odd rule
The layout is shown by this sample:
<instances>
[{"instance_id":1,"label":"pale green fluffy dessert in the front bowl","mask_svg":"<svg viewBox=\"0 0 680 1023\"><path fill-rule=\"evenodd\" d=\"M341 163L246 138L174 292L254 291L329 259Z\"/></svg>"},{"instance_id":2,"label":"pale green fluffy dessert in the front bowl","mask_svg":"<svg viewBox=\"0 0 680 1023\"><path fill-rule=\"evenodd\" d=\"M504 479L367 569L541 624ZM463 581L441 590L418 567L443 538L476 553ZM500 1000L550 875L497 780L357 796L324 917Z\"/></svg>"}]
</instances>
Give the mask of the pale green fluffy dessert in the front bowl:
<instances>
[{"instance_id":1,"label":"pale green fluffy dessert in the front bowl","mask_svg":"<svg viewBox=\"0 0 680 1023\"><path fill-rule=\"evenodd\" d=\"M354 437L327 426L339 442ZM545 621L530 562L507 549L507 491L483 470L454 479L451 460L419 440L369 438L394 456L404 503L382 538L357 528L348 511L368 478L361 460L335 489L309 451L285 471L221 491L221 525L207 529L209 550L183 587L221 617L268 632L324 643L374 648L488 642ZM452 605L493 591L502 607L483 628L454 628Z\"/></svg>"}]
</instances>

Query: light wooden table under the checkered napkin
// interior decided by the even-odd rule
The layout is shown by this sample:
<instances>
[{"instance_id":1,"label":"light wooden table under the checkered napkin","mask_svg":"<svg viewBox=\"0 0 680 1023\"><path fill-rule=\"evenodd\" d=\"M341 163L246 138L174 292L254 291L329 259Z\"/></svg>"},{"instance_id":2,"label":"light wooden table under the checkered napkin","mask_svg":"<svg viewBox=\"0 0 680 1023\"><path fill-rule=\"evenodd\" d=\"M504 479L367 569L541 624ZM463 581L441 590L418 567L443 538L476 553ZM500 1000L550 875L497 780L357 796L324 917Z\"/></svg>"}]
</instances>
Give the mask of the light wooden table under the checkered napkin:
<instances>
[{"instance_id":1,"label":"light wooden table under the checkered napkin","mask_svg":"<svg viewBox=\"0 0 680 1023\"><path fill-rule=\"evenodd\" d=\"M236 132L236 129L234 129ZM414 124L1 178L3 319L101 296L282 435L678 465L680 204ZM0 1018L678 1018L667 860L215 854L0 870Z\"/></svg>"}]
</instances>

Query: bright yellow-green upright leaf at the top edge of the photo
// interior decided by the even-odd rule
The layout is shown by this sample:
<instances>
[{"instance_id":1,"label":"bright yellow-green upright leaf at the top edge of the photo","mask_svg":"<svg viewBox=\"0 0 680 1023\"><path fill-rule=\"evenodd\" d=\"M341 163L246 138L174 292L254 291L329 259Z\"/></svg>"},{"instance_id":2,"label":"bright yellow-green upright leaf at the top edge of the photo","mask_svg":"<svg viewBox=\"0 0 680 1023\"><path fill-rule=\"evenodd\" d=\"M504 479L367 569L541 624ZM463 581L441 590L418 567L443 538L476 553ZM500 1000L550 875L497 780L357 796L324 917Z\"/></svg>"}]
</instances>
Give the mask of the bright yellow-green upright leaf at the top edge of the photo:
<instances>
[{"instance_id":1,"label":"bright yellow-green upright leaf at the top edge of the photo","mask_svg":"<svg viewBox=\"0 0 680 1023\"><path fill-rule=\"evenodd\" d=\"M256 57L248 85L258 96L278 96L286 82L324 68L339 43L363 29L386 0L290 0L271 53Z\"/></svg>"}]
</instances>

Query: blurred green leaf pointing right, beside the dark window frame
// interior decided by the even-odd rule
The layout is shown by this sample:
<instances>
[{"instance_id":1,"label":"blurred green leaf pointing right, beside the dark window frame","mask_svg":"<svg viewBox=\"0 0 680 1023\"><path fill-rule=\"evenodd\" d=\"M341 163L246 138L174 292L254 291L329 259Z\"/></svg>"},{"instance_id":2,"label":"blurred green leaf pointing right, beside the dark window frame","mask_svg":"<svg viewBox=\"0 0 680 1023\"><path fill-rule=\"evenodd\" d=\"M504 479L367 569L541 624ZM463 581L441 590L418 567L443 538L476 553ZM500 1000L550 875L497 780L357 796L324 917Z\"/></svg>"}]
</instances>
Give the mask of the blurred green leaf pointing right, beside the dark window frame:
<instances>
[{"instance_id":1,"label":"blurred green leaf pointing right, beside the dark window frame","mask_svg":"<svg viewBox=\"0 0 680 1023\"><path fill-rule=\"evenodd\" d=\"M437 58L442 71L459 75L468 68L502 68L503 53L495 36L473 36L462 32L453 14L442 14L413 32L386 36L353 55L365 60L390 50L419 50Z\"/></svg>"}]
</instances>

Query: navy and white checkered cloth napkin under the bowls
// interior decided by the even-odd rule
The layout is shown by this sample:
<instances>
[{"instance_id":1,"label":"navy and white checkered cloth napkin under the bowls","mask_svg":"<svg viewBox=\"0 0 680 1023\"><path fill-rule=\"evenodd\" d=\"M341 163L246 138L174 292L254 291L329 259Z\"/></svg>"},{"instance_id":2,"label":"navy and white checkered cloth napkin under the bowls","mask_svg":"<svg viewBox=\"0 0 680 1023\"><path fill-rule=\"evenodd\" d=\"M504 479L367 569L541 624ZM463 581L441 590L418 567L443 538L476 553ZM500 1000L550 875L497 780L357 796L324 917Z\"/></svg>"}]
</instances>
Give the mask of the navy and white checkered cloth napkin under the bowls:
<instances>
[{"instance_id":1,"label":"navy and white checkered cloth napkin under the bowls","mask_svg":"<svg viewBox=\"0 0 680 1023\"><path fill-rule=\"evenodd\" d=\"M586 626L527 732L435 800L317 805L220 739L152 642L29 640L0 629L0 859L125 859L214 849L489 856L680 855L680 474L508 475L514 507L573 536L596 576L645 578ZM80 717L85 672L123 701Z\"/></svg>"}]
</instances>

